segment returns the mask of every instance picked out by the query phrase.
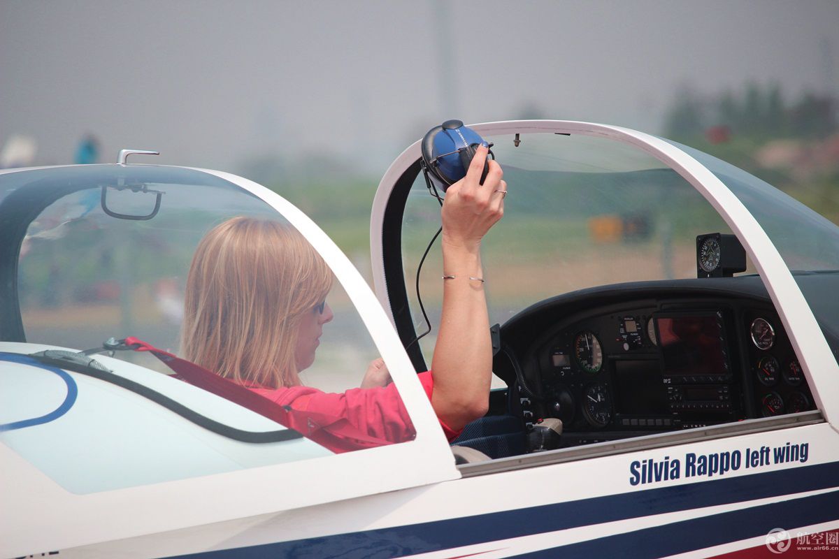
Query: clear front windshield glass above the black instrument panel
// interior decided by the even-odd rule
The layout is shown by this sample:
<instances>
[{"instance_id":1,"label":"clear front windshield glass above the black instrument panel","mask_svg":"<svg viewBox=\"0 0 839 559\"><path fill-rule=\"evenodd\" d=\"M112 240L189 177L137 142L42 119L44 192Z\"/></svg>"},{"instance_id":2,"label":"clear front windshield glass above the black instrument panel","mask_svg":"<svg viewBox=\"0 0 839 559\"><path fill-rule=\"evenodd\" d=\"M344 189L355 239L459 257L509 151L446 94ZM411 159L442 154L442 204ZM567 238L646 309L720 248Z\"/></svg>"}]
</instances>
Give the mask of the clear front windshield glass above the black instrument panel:
<instances>
[{"instance_id":1,"label":"clear front windshield glass above the black instrument panel","mask_svg":"<svg viewBox=\"0 0 839 559\"><path fill-rule=\"evenodd\" d=\"M503 324L533 303L586 287L696 277L696 236L731 232L696 189L639 148L553 133L514 139L487 137L509 190L504 219L482 245L491 323ZM420 173L406 203L402 238L418 333L425 321L414 278L439 226L439 204ZM440 261L426 258L420 277L431 323L440 313ZM433 335L421 342L426 360Z\"/></svg>"}]
</instances>

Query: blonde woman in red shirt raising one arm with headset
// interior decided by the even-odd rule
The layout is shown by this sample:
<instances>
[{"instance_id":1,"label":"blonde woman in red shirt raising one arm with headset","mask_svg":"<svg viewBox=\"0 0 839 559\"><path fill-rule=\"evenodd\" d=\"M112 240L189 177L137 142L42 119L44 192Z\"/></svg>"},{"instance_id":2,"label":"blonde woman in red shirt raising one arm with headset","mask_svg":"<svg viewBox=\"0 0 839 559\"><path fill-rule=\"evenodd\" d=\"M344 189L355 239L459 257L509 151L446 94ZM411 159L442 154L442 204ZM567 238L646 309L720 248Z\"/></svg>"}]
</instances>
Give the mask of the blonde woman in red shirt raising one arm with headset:
<instances>
[{"instance_id":1,"label":"blonde woman in red shirt raising one arm with headset","mask_svg":"<svg viewBox=\"0 0 839 559\"><path fill-rule=\"evenodd\" d=\"M507 184L492 159L479 183L485 146L446 192L441 210L443 308L431 371L420 382L449 440L488 406L492 345L484 296L481 239L503 215ZM326 445L334 452L397 443L414 428L381 360L360 388L327 393L303 386L320 334L333 317L326 303L332 275L297 230L235 217L199 244L185 293L181 353L185 359L274 401L294 414L286 427L306 432L318 417L338 417ZM298 413L300 412L300 413ZM315 417L315 419L311 419ZM305 424L304 424L305 423ZM346 433L352 432L347 435Z\"/></svg>"}]
</instances>

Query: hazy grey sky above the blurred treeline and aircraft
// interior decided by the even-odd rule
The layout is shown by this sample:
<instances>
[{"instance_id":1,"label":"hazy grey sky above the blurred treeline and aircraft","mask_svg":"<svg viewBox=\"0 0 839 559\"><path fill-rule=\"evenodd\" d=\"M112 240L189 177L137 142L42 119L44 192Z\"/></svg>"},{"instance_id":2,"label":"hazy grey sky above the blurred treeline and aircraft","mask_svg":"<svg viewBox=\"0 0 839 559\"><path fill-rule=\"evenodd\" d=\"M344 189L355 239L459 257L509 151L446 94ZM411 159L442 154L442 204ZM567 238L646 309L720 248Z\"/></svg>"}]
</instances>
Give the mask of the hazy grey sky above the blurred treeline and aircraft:
<instances>
[{"instance_id":1,"label":"hazy grey sky above the blurred treeline and aircraft","mask_svg":"<svg viewBox=\"0 0 839 559\"><path fill-rule=\"evenodd\" d=\"M380 175L431 126L546 117L660 132L680 85L836 92L839 1L0 0L0 144L236 172L323 152Z\"/></svg>"}]
</instances>

